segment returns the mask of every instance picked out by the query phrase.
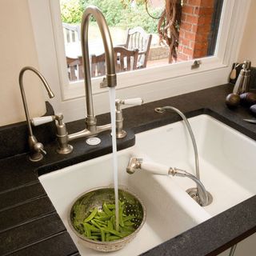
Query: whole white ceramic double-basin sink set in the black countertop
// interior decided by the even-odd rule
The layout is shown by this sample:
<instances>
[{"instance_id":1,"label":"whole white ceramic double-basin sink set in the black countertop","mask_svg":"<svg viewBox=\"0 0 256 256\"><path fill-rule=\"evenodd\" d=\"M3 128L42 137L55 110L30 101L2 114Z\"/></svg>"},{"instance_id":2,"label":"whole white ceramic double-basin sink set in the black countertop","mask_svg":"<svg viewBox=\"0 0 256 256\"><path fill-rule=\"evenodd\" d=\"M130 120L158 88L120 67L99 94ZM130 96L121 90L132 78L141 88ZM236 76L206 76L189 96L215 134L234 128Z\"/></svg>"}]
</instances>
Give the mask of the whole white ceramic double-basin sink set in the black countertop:
<instances>
[{"instance_id":1,"label":"whole white ceramic double-basin sink set in the black countertop","mask_svg":"<svg viewBox=\"0 0 256 256\"><path fill-rule=\"evenodd\" d=\"M189 122L198 145L201 180L213 202L205 207L194 202L186 194L187 189L195 187L189 178L154 175L145 170L126 173L130 157L136 156L195 174L194 150L184 122L136 134L135 146L118 152L118 180L144 202L146 223L122 249L122 255L141 254L256 193L256 142L206 114ZM100 253L82 246L70 230L70 204L86 190L113 185L113 177L111 154L39 177L82 255Z\"/></svg>"}]
</instances>

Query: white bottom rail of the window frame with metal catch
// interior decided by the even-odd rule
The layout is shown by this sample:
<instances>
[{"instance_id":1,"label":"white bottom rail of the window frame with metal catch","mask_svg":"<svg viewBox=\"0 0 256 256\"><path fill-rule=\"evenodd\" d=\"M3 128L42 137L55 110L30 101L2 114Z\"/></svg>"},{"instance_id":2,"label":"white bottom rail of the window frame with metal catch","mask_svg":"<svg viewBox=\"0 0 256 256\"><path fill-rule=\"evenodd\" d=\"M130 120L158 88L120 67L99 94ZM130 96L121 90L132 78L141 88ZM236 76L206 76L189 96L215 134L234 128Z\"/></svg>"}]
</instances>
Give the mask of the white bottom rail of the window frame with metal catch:
<instances>
[{"instance_id":1,"label":"white bottom rail of the window frame with metal catch","mask_svg":"<svg viewBox=\"0 0 256 256\"><path fill-rule=\"evenodd\" d=\"M134 70L132 72L117 74L118 86L116 89L122 90L135 87L139 90L140 86L146 86L147 84L156 82L171 82L174 78L184 78L186 81L187 79L190 80L191 76L194 74L201 74L201 76L204 77L209 75L209 71L218 70L219 72L222 72L222 70L225 70L227 67L216 57L202 58L201 60L202 64L194 70L191 70L191 65L194 62L194 60L191 60L190 62L179 62L172 65L158 66L146 68L144 70ZM106 93L108 91L107 88L100 88L100 82L102 82L102 77L92 79L92 90L94 95ZM217 84L218 83L216 83L216 85ZM63 101L74 98L82 98L85 96L83 80L68 83L63 87Z\"/></svg>"}]
</instances>

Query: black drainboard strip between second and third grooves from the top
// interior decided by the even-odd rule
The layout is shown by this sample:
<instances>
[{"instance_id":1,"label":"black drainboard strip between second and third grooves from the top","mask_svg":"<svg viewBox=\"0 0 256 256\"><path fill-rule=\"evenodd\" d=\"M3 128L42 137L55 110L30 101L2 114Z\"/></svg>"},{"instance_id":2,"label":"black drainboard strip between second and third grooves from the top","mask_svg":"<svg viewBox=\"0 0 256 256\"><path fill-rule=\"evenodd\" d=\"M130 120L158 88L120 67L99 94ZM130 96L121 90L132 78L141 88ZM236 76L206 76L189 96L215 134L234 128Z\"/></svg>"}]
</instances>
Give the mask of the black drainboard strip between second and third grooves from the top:
<instances>
[{"instance_id":1,"label":"black drainboard strip between second and third grooves from the top","mask_svg":"<svg viewBox=\"0 0 256 256\"><path fill-rule=\"evenodd\" d=\"M0 212L0 232L54 211L54 206L48 197L37 198L8 210L3 210Z\"/></svg>"}]
</instances>

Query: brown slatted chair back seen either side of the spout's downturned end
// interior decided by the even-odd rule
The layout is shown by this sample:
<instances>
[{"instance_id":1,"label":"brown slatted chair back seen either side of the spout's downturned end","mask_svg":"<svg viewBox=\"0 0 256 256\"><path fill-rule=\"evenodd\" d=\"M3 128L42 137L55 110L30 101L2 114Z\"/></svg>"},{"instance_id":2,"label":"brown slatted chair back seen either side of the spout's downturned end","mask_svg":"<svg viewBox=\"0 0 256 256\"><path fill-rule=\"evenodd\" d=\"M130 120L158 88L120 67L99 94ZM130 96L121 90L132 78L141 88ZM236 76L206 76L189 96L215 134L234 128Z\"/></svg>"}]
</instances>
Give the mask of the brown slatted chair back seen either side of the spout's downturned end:
<instances>
[{"instance_id":1,"label":"brown slatted chair back seen either side of the spout's downturned end","mask_svg":"<svg viewBox=\"0 0 256 256\"><path fill-rule=\"evenodd\" d=\"M137 69L138 49L128 50L122 46L114 47L114 59L116 72L124 72ZM91 76L106 74L105 54L91 56Z\"/></svg>"}]
</instances>

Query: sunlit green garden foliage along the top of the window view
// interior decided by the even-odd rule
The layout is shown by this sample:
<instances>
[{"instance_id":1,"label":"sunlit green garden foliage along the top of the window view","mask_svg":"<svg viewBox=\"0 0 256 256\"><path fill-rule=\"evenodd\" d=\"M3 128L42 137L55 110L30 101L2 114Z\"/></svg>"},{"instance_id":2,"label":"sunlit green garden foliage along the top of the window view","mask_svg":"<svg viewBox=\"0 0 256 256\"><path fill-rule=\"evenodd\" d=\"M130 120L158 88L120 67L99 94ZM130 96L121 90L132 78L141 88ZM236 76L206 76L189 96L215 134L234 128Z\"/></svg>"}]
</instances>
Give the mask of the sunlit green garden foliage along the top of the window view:
<instances>
[{"instance_id":1,"label":"sunlit green garden foliage along the top of the window view","mask_svg":"<svg viewBox=\"0 0 256 256\"><path fill-rule=\"evenodd\" d=\"M148 33L157 32L158 20L146 13L143 1L137 1L137 6L132 7L130 0L62 0L62 21L81 22L82 11L90 5L98 6L102 10L109 26L118 26L123 29L142 26ZM150 10L150 14L158 17L161 10Z\"/></svg>"}]
</instances>

